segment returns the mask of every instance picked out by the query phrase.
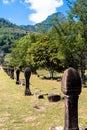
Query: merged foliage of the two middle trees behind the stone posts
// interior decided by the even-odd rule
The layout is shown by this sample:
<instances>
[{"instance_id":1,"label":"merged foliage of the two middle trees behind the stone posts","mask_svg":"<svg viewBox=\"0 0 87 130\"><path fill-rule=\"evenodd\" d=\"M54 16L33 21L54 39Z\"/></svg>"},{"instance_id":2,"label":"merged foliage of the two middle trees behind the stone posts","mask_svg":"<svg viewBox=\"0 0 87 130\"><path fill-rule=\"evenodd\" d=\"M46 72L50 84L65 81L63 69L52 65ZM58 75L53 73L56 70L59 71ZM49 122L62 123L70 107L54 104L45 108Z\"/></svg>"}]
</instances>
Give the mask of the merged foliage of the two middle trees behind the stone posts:
<instances>
[{"instance_id":1,"label":"merged foliage of the two middle trees behind the stone posts","mask_svg":"<svg viewBox=\"0 0 87 130\"><path fill-rule=\"evenodd\" d=\"M30 66L34 71L38 67L61 71L62 65L58 54L59 45L56 34L47 35L30 33L15 43L11 49L11 64L14 66ZM58 39L58 38L57 38Z\"/></svg>"}]
</instances>

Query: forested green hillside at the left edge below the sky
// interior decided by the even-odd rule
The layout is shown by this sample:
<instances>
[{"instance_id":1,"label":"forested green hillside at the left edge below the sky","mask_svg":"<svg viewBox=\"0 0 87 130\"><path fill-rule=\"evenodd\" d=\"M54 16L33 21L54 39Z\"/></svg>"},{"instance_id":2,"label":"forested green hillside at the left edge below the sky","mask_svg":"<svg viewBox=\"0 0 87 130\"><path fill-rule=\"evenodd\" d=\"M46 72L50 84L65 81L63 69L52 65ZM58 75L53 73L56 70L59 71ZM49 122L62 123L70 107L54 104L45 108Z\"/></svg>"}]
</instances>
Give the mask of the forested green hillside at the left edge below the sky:
<instances>
[{"instance_id":1,"label":"forested green hillside at the left edge below the sky","mask_svg":"<svg viewBox=\"0 0 87 130\"><path fill-rule=\"evenodd\" d=\"M8 53L12 43L26 34L26 30L21 29L19 26L12 24L3 18L0 18L0 51Z\"/></svg>"}]
</instances>

